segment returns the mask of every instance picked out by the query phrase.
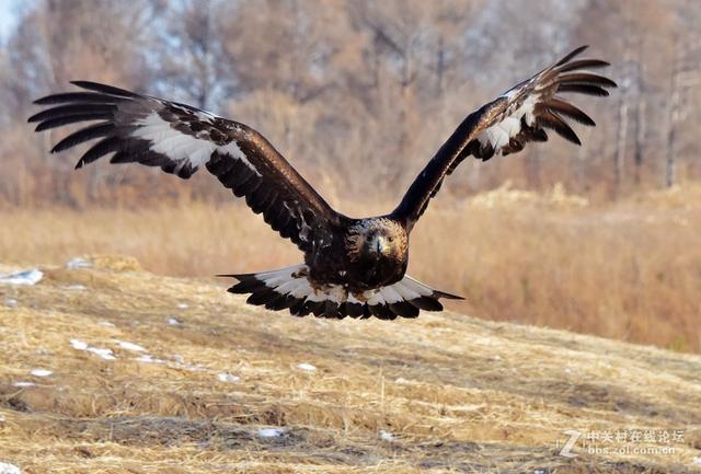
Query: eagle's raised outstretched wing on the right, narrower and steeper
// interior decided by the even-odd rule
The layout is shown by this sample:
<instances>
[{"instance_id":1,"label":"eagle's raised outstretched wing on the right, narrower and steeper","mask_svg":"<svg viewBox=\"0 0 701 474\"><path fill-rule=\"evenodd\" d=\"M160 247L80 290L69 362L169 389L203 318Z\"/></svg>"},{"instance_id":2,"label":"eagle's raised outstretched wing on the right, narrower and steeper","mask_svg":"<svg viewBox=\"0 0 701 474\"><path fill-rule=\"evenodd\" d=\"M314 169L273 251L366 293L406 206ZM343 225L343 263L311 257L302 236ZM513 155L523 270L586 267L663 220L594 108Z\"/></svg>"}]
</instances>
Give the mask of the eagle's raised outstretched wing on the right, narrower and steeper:
<instances>
[{"instance_id":1,"label":"eagle's raised outstretched wing on the right, narrower and steeper","mask_svg":"<svg viewBox=\"0 0 701 474\"><path fill-rule=\"evenodd\" d=\"M444 178L469 155L486 161L495 154L518 152L529 141L547 141L547 128L582 144L565 118L587 126L595 123L558 94L572 92L606 96L609 94L606 88L616 88L610 79L586 71L609 66L608 62L573 60L586 48L575 49L558 63L470 114L414 180L393 217L404 219L411 229L440 189Z\"/></svg>"}]
</instances>

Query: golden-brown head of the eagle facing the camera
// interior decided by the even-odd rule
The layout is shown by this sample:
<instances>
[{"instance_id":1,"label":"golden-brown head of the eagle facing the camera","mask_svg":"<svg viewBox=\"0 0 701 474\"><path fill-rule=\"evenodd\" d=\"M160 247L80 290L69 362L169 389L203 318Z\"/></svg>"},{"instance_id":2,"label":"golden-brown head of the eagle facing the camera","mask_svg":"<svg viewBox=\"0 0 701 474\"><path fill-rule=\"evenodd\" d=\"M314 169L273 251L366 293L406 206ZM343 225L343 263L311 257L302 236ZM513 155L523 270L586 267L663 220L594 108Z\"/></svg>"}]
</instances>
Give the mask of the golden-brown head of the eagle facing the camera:
<instances>
[{"instance_id":1,"label":"golden-brown head of the eagle facing the camera","mask_svg":"<svg viewBox=\"0 0 701 474\"><path fill-rule=\"evenodd\" d=\"M407 248L404 228L387 218L364 219L350 228L346 248L352 261L391 258L401 261Z\"/></svg>"}]
</instances>

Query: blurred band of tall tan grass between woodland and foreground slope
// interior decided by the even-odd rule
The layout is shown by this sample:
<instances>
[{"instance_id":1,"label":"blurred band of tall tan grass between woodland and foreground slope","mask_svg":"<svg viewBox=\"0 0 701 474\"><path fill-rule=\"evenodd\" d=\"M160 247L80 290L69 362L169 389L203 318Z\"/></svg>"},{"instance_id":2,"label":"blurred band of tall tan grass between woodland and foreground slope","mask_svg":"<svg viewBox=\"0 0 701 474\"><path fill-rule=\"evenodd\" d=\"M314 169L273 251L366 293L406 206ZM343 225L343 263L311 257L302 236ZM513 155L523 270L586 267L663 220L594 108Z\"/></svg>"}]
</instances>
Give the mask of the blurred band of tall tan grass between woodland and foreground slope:
<instances>
[{"instance_id":1,"label":"blurred band of tall tan grass between woodland and foreground slope","mask_svg":"<svg viewBox=\"0 0 701 474\"><path fill-rule=\"evenodd\" d=\"M349 210L367 215L368 207ZM118 253L157 274L209 277L301 261L240 203L5 210L0 220L3 263ZM505 186L433 203L412 236L410 271L467 297L450 308L479 317L698 351L700 234L701 186L606 206L561 188L537 195Z\"/></svg>"}]
</instances>

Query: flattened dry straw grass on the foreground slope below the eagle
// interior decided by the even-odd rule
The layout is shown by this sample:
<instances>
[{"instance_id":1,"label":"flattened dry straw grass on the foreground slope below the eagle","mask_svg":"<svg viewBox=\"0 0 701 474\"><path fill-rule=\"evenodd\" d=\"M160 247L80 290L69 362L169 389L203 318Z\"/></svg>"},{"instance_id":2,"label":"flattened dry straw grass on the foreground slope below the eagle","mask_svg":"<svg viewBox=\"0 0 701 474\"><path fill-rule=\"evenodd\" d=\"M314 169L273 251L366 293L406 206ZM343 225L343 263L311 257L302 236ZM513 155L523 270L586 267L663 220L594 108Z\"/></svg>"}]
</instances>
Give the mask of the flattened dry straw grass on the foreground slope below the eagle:
<instances>
[{"instance_id":1,"label":"flattened dry straw grass on the foreground slope below the eagle","mask_svg":"<svg viewBox=\"0 0 701 474\"><path fill-rule=\"evenodd\" d=\"M23 473L662 474L693 472L699 456L697 355L456 313L286 317L134 261L92 261L0 286L0 461ZM262 427L286 431L264 439ZM581 440L567 459L566 429L683 439L611 444L674 449L645 454L591 454Z\"/></svg>"}]
</instances>

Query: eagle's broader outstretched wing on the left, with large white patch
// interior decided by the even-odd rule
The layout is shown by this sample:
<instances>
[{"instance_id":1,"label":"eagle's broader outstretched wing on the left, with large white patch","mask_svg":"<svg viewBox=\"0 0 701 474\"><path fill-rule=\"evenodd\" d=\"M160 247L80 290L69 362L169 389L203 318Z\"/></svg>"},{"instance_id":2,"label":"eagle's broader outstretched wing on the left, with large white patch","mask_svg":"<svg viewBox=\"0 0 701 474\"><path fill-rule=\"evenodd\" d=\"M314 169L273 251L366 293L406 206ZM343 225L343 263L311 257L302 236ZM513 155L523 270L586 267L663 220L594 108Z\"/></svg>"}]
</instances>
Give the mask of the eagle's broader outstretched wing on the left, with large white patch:
<instances>
[{"instance_id":1,"label":"eagle's broader outstretched wing on the left, with large white patch","mask_svg":"<svg viewBox=\"0 0 701 474\"><path fill-rule=\"evenodd\" d=\"M185 104L94 82L87 91L53 94L28 122L36 131L97 120L59 141L51 152L97 139L76 167L112 154L111 163L138 162L188 178L205 165L255 213L302 251L338 224L336 213L257 131Z\"/></svg>"}]
</instances>

